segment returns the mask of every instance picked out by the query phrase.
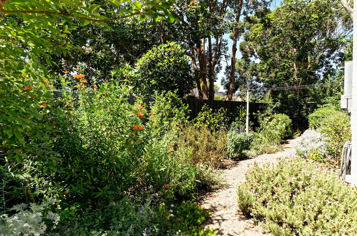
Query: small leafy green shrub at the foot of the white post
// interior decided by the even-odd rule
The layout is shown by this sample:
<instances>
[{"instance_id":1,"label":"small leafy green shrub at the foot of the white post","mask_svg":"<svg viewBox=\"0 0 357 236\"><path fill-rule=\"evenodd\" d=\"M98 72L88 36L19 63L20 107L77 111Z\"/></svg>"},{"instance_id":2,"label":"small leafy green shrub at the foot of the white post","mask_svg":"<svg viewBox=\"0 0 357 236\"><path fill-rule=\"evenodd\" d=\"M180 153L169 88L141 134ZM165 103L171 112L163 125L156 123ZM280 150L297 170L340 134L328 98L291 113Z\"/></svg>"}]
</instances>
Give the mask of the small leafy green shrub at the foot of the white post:
<instances>
[{"instance_id":1,"label":"small leafy green shrub at the foot of the white post","mask_svg":"<svg viewBox=\"0 0 357 236\"><path fill-rule=\"evenodd\" d=\"M241 156L244 150L250 148L252 144L254 133L241 133L236 134L236 132L231 131L227 133L228 142L227 142L227 152L228 156L235 157Z\"/></svg>"}]
</instances>

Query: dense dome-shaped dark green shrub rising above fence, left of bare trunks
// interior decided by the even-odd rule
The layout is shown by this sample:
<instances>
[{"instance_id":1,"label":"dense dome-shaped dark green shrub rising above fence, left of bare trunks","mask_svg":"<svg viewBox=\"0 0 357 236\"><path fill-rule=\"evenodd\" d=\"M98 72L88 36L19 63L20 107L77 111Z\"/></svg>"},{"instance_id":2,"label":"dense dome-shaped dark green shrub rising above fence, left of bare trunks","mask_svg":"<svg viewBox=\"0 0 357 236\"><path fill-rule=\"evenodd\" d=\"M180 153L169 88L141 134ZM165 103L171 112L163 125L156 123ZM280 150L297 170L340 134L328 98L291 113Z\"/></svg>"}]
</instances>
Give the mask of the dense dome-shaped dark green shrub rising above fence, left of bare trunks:
<instances>
[{"instance_id":1,"label":"dense dome-shaped dark green shrub rising above fence, left of bare trunks","mask_svg":"<svg viewBox=\"0 0 357 236\"><path fill-rule=\"evenodd\" d=\"M190 59L175 42L159 44L145 52L135 62L134 76L128 80L132 86L139 87L142 95L177 89L178 96L183 97L195 87Z\"/></svg>"}]
</instances>

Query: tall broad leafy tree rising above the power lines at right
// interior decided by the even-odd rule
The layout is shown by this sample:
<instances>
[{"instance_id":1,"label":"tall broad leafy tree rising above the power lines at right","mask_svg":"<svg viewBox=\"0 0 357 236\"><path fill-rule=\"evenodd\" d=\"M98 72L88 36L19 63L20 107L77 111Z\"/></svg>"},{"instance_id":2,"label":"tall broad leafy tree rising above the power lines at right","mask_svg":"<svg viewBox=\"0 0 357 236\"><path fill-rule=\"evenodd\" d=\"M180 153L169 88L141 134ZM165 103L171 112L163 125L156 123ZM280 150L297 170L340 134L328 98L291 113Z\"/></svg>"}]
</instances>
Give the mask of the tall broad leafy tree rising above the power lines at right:
<instances>
[{"instance_id":1,"label":"tall broad leafy tree rising above the power lines at right","mask_svg":"<svg viewBox=\"0 0 357 236\"><path fill-rule=\"evenodd\" d=\"M332 4L329 0L286 0L247 27L241 50L261 60L262 82L267 86L313 84L326 68L343 59L351 22L332 10Z\"/></svg>"}]
</instances>

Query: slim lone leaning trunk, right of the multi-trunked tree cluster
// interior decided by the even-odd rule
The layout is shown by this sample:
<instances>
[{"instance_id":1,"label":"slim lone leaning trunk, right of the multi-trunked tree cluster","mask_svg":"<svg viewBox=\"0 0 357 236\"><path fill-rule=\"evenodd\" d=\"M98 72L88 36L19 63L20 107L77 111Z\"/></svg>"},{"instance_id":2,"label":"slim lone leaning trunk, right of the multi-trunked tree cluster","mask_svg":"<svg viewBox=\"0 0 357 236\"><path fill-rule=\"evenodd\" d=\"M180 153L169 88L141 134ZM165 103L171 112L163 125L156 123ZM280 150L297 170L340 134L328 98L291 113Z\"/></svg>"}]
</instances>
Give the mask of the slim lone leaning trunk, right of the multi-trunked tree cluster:
<instances>
[{"instance_id":1,"label":"slim lone leaning trunk, right of the multi-trunked tree cluster","mask_svg":"<svg viewBox=\"0 0 357 236\"><path fill-rule=\"evenodd\" d=\"M236 26L234 28L234 35L233 35L231 74L230 74L229 88L227 92L226 101L231 101L233 96L235 73L236 73L236 52L237 52L238 30L239 30L238 22L239 22L239 18L241 17L242 5L243 5L243 0L239 0L238 12L236 15Z\"/></svg>"}]
</instances>

